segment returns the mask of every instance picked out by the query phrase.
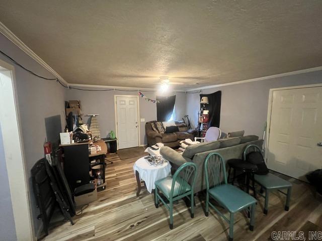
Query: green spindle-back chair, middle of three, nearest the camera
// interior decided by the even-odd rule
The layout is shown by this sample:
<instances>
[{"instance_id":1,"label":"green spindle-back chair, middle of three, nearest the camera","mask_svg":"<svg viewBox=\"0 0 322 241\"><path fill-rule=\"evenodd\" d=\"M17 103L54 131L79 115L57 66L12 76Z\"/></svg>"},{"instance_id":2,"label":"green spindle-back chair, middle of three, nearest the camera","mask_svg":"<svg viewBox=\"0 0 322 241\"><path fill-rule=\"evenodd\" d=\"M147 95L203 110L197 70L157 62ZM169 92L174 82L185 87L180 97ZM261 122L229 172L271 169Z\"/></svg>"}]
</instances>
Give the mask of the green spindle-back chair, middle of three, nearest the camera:
<instances>
[{"instance_id":1,"label":"green spindle-back chair, middle of three, nearest the camera","mask_svg":"<svg viewBox=\"0 0 322 241\"><path fill-rule=\"evenodd\" d=\"M251 210L250 230L254 230L256 199L239 188L227 184L225 161L219 153L210 153L204 164L207 194L206 213L209 215L209 206L220 214L229 223L229 241L233 240L233 219L236 212ZM222 173L222 174L221 174ZM230 218L225 217L211 202L209 197L215 199L230 213Z\"/></svg>"}]
</instances>

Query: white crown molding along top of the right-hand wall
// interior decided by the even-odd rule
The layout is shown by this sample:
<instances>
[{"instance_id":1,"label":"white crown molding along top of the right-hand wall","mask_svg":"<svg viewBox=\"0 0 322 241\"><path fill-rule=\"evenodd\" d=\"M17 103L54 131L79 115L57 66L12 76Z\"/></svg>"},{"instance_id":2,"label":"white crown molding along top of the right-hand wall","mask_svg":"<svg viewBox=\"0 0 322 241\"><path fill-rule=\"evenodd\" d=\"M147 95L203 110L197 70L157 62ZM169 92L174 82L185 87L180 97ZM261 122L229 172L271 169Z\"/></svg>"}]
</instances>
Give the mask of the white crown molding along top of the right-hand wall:
<instances>
[{"instance_id":1,"label":"white crown molding along top of the right-hand wall","mask_svg":"<svg viewBox=\"0 0 322 241\"><path fill-rule=\"evenodd\" d=\"M322 70L322 66L309 68L309 69L301 69L301 70L296 70L296 71L282 73L282 74L274 74L274 75L269 75L269 76L254 78L254 79L246 79L246 80L240 80L240 81L224 83L224 84L215 84L215 85L208 85L208 86L203 86L203 87L199 87L199 88L191 88L191 89L187 89L186 91L210 89L210 88L216 88L216 87L233 85L233 84L243 84L243 83L249 83L249 82L254 82L254 81L260 81L260 80L274 79L274 78L278 78L278 77L290 76L290 75L295 75L295 74L303 74L303 73L308 73L308 72L314 72L314 71L319 71L319 70Z\"/></svg>"}]
</instances>

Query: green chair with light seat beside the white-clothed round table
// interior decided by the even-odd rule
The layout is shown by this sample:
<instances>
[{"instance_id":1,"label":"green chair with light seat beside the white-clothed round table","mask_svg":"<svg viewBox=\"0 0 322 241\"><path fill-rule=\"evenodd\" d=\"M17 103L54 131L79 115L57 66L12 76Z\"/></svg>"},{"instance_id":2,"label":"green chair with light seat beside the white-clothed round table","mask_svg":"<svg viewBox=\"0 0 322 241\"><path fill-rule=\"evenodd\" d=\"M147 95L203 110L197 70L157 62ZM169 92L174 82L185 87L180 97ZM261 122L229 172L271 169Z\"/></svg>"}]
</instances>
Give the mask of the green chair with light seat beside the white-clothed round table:
<instances>
[{"instance_id":1,"label":"green chair with light seat beside the white-clothed round table","mask_svg":"<svg viewBox=\"0 0 322 241\"><path fill-rule=\"evenodd\" d=\"M183 197L188 197L191 203L190 213L191 218L194 217L194 192L197 177L197 165L193 162L187 162L181 165L172 177L166 177L154 182L154 201L155 207L158 208L159 200L165 204L170 211L170 229L173 229L173 202ZM190 183L190 184L189 184ZM162 192L169 200L169 205L159 195L158 191Z\"/></svg>"}]
</instances>

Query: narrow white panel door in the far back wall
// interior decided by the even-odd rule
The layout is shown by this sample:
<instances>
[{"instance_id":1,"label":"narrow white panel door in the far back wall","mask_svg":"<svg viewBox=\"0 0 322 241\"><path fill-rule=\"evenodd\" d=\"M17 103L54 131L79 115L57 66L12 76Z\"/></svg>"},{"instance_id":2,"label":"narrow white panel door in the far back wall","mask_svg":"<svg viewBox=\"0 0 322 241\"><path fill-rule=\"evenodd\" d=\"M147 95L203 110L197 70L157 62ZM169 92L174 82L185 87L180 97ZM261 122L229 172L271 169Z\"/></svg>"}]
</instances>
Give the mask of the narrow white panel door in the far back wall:
<instances>
[{"instance_id":1,"label":"narrow white panel door in the far back wall","mask_svg":"<svg viewBox=\"0 0 322 241\"><path fill-rule=\"evenodd\" d=\"M116 96L119 149L139 146L137 97Z\"/></svg>"}]
</instances>

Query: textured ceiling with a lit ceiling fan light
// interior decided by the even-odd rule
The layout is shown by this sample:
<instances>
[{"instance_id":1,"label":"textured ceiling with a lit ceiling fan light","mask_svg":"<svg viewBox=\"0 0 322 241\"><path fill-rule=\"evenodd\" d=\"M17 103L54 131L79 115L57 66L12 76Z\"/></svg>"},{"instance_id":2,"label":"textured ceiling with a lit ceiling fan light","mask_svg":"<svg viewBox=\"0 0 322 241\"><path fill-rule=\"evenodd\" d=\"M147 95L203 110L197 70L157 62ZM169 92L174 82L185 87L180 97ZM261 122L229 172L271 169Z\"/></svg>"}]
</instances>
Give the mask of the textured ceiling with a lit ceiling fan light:
<instances>
[{"instance_id":1,"label":"textured ceiling with a lit ceiling fan light","mask_svg":"<svg viewBox=\"0 0 322 241\"><path fill-rule=\"evenodd\" d=\"M186 89L322 66L319 0L0 6L0 21L69 83L156 87L168 75Z\"/></svg>"}]
</instances>

